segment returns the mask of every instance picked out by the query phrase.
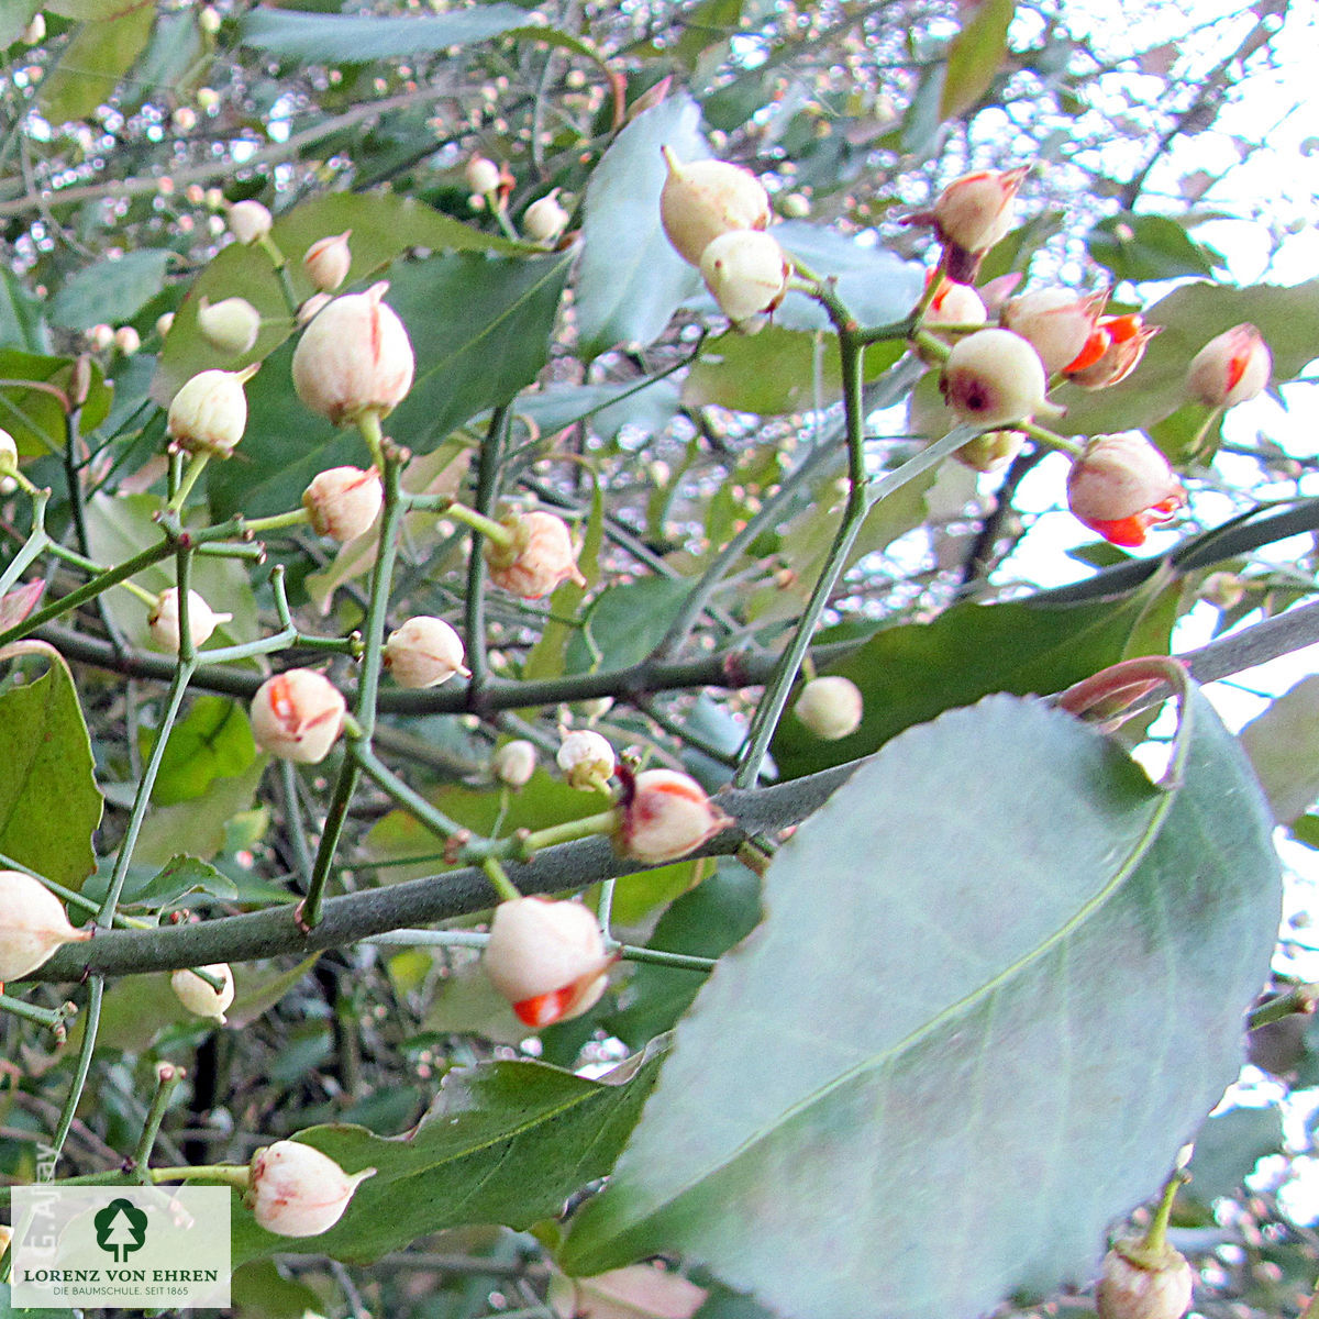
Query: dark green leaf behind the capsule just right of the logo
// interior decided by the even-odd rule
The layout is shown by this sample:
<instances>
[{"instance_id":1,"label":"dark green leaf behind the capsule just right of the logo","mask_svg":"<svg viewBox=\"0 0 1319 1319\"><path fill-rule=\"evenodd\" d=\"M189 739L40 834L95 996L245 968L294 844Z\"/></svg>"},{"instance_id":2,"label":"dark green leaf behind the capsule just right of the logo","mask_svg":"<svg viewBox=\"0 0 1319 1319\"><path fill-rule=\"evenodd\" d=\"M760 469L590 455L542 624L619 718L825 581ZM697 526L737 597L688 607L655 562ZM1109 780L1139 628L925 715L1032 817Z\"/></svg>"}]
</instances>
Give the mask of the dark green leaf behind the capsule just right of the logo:
<instances>
[{"instance_id":1,"label":"dark green leaf behind the capsule just right of the logo","mask_svg":"<svg viewBox=\"0 0 1319 1319\"><path fill-rule=\"evenodd\" d=\"M582 1184L609 1171L658 1070L649 1050L587 1080L536 1062L450 1071L430 1112L408 1136L361 1126L313 1126L297 1138L350 1173L376 1169L348 1212L309 1248L355 1262L467 1223L525 1229L553 1217ZM298 1249L233 1212L233 1262Z\"/></svg>"}]
</instances>

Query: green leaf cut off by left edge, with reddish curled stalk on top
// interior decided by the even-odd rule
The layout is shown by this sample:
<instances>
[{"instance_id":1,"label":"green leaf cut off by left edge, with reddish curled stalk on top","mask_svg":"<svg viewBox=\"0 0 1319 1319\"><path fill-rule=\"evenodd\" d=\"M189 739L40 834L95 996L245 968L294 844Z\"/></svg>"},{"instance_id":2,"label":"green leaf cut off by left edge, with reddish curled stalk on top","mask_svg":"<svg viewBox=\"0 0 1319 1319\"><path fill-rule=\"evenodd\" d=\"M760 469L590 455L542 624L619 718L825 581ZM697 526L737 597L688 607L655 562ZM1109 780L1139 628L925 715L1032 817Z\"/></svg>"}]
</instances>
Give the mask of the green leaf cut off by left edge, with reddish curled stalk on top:
<instances>
[{"instance_id":1,"label":"green leaf cut off by left edge, with reddish curled stalk on top","mask_svg":"<svg viewBox=\"0 0 1319 1319\"><path fill-rule=\"evenodd\" d=\"M78 888L96 868L102 799L87 725L65 661L41 642L7 648L49 661L34 682L0 692L0 852Z\"/></svg>"}]
</instances>

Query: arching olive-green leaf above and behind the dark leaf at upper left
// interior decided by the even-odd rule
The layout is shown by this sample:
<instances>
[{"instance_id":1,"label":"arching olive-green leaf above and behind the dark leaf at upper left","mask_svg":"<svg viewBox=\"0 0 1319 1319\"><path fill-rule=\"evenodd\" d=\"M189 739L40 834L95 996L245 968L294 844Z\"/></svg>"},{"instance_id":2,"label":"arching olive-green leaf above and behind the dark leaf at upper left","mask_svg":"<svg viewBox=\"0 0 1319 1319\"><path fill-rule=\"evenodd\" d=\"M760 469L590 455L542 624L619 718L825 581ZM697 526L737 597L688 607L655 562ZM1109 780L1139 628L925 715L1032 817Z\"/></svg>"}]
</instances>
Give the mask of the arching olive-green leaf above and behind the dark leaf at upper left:
<instances>
[{"instance_id":1,"label":"arching olive-green leaf above and behind the dark leaf at upper left","mask_svg":"<svg viewBox=\"0 0 1319 1319\"><path fill-rule=\"evenodd\" d=\"M346 291L365 286L409 248L430 248L435 252L530 251L497 235L474 230L408 197L393 193L334 193L285 211L270 230L270 237L288 257L288 276L299 302L315 291L302 269L307 248L319 239L348 230L352 231L348 240L352 265L344 282ZM197 324L203 297L210 302L219 302L232 297L235 289L241 290L243 297L261 313L261 332L252 351L240 357L216 352L202 338ZM156 380L152 383L152 397L161 406L169 406L169 401L190 376L212 367L233 371L249 361L260 361L291 332L289 309L269 256L261 248L230 243L189 286L187 297L165 340ZM264 368L266 372L270 369L274 369L273 365ZM288 367L284 371L286 375ZM306 412L301 404L298 409ZM310 419L310 413L306 415Z\"/></svg>"}]
</instances>

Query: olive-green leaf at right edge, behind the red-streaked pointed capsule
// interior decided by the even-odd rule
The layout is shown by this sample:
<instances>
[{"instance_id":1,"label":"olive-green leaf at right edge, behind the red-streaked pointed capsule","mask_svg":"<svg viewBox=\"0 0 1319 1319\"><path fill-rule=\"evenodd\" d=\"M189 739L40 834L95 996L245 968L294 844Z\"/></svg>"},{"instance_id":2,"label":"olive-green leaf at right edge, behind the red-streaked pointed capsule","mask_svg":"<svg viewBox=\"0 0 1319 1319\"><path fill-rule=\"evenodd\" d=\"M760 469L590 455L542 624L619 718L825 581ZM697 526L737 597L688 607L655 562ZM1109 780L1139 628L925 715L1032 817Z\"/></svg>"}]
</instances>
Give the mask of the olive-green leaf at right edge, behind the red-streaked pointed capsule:
<instances>
[{"instance_id":1,"label":"olive-green leaf at right edge, behind the red-streaked pointed capsule","mask_svg":"<svg viewBox=\"0 0 1319 1319\"><path fill-rule=\"evenodd\" d=\"M1064 434L1108 434L1162 421L1187 401L1191 357L1215 335L1242 322L1254 324L1269 344L1273 379L1291 380L1312 360L1319 342L1319 280L1291 288L1187 284L1155 302L1145 319L1163 328L1126 380L1093 393L1075 385L1054 392L1051 397L1067 408L1055 422Z\"/></svg>"}]
</instances>

